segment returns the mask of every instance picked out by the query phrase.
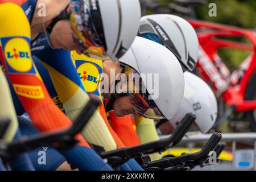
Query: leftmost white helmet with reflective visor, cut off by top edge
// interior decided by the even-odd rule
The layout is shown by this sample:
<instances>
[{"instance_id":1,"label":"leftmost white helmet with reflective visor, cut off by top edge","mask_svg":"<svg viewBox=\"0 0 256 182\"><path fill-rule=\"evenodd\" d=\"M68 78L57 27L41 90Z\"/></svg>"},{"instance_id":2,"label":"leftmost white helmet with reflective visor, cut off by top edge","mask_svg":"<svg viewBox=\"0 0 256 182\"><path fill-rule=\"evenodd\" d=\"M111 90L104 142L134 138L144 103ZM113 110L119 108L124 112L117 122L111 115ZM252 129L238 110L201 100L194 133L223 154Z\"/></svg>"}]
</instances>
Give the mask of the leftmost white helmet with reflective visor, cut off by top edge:
<instances>
[{"instance_id":1,"label":"leftmost white helmet with reflective visor, cut off by top edge","mask_svg":"<svg viewBox=\"0 0 256 182\"><path fill-rule=\"evenodd\" d=\"M118 60L139 29L139 0L71 0L67 7L77 48L96 59Z\"/></svg>"}]
</instances>

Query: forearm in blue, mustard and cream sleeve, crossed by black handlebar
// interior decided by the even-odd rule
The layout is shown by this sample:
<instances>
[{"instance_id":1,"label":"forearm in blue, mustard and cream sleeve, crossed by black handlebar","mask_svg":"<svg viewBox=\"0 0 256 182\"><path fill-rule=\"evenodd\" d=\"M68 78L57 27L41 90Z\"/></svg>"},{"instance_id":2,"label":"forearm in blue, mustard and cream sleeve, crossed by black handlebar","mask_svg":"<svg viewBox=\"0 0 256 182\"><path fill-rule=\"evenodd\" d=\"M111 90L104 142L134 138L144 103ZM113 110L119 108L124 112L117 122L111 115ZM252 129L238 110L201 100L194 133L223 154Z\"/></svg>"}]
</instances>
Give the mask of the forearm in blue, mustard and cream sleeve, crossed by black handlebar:
<instances>
[{"instance_id":1,"label":"forearm in blue, mustard and cream sleeve, crossed by black handlebar","mask_svg":"<svg viewBox=\"0 0 256 182\"><path fill-rule=\"evenodd\" d=\"M82 107L89 101L80 77L70 59L68 51L48 50L50 53L37 55L51 75L56 92L63 102L65 113L74 121L81 112ZM81 132L88 142L105 148L106 151L115 150L117 145L110 134L101 115L96 112L88 125Z\"/></svg>"}]
</instances>

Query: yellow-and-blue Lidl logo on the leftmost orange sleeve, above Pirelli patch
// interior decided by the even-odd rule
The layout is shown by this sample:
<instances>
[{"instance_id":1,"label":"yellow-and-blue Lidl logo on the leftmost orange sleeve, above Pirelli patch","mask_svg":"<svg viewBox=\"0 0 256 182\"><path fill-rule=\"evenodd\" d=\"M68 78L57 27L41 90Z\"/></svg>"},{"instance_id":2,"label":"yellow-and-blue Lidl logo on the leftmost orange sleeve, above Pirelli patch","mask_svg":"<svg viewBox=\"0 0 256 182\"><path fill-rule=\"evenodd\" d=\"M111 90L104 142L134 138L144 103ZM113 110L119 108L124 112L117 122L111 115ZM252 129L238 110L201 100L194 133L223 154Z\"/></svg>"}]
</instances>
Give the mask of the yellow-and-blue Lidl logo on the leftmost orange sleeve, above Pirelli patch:
<instances>
[{"instance_id":1,"label":"yellow-and-blue Lidl logo on the leftmost orange sleeve, above Pirelli patch","mask_svg":"<svg viewBox=\"0 0 256 182\"><path fill-rule=\"evenodd\" d=\"M2 38L8 73L36 74L30 53L30 39L26 37Z\"/></svg>"}]
</instances>

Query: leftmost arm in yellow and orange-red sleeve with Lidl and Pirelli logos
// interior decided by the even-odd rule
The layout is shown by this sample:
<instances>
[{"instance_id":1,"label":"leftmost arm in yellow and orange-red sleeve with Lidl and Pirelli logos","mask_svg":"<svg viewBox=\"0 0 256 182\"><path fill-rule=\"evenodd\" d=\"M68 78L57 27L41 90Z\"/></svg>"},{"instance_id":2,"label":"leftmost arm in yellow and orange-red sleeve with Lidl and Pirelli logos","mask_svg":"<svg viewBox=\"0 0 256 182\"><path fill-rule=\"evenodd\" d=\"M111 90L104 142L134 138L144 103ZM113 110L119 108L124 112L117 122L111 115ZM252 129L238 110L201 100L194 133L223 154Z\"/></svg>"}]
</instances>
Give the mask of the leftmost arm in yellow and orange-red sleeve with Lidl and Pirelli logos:
<instances>
[{"instance_id":1,"label":"leftmost arm in yellow and orange-red sleeve with Lidl and Pirelli logos","mask_svg":"<svg viewBox=\"0 0 256 182\"><path fill-rule=\"evenodd\" d=\"M0 23L5 27L0 30L2 44L0 59L24 109L40 131L52 131L70 126L69 119L51 101L42 78L32 62L30 24L26 15L19 6L11 3L0 5L0 9Z\"/></svg>"}]
</instances>

